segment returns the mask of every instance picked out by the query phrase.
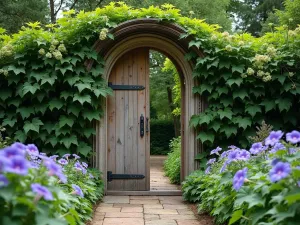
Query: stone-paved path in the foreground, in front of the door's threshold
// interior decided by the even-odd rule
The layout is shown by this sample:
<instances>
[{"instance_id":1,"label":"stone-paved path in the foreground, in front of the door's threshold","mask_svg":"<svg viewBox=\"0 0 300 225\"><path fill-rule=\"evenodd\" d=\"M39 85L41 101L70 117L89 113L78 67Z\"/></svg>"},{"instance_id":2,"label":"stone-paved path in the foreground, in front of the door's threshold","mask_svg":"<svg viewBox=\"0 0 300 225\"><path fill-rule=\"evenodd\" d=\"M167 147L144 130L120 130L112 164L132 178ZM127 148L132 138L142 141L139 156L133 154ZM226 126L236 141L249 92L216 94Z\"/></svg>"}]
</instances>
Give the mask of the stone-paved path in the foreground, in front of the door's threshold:
<instances>
[{"instance_id":1,"label":"stone-paved path in the foreground, in front of the door's threshold","mask_svg":"<svg viewBox=\"0 0 300 225\"><path fill-rule=\"evenodd\" d=\"M203 225L181 196L105 196L91 225Z\"/></svg>"}]
</instances>

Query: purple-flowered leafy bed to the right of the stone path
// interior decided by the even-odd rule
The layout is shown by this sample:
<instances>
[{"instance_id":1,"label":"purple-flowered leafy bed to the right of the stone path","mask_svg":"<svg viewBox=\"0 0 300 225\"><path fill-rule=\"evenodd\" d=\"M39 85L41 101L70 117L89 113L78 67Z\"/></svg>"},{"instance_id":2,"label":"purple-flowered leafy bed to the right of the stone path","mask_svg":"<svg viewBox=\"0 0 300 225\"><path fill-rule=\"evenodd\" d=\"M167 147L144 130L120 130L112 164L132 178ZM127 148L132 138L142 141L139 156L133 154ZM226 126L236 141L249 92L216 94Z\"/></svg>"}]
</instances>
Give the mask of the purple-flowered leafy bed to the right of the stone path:
<instances>
[{"instance_id":1,"label":"purple-flowered leafy bed to the right of the stone path","mask_svg":"<svg viewBox=\"0 0 300 225\"><path fill-rule=\"evenodd\" d=\"M249 151L216 148L205 172L196 171L183 184L184 198L199 202L217 223L299 224L300 132L282 137L272 131Z\"/></svg>"}]
</instances>

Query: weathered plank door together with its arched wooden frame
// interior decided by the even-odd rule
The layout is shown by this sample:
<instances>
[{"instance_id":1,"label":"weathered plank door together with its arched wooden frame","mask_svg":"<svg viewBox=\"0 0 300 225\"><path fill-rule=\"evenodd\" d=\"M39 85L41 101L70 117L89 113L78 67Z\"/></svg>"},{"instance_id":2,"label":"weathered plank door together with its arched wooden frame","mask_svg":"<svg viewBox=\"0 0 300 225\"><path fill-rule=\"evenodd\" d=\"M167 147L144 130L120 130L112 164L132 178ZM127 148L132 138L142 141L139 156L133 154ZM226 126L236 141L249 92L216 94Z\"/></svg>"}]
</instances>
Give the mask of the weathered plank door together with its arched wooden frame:
<instances>
[{"instance_id":1,"label":"weathered plank door together with its arched wooden frame","mask_svg":"<svg viewBox=\"0 0 300 225\"><path fill-rule=\"evenodd\" d=\"M93 163L104 173L107 193L147 194L150 186L149 137L151 133L147 132L145 127L149 118L147 81L149 49L168 56L181 77L182 180L198 168L195 156L202 151L202 146L196 140L197 134L194 128L189 127L189 119L192 115L202 112L205 103L199 95L192 93L196 81L192 77L193 63L185 59L186 53L191 50L188 48L188 40L180 39L180 35L185 33L183 28L174 24L161 23L156 19L137 19L122 23L110 32L114 35L114 40L97 41L94 45L106 61L104 79L112 85L137 85L136 88L141 90L115 90L114 96L105 100L106 113L96 125ZM192 50L203 56L198 49ZM136 72L134 67L137 67ZM144 89L139 86L143 86ZM142 117L143 135L141 134ZM142 174L145 178L108 185L109 171Z\"/></svg>"}]
</instances>

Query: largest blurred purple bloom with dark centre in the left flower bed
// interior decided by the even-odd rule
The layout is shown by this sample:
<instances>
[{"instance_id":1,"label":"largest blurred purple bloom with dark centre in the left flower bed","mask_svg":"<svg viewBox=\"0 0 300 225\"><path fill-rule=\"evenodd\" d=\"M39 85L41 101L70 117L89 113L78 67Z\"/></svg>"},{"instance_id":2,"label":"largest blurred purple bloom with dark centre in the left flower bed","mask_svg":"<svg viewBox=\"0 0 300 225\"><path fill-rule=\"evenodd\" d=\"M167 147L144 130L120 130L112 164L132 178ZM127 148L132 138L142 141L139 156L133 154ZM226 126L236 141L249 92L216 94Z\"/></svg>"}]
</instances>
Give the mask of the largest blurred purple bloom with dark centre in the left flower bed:
<instances>
[{"instance_id":1,"label":"largest blurred purple bloom with dark centre in the left flower bed","mask_svg":"<svg viewBox=\"0 0 300 225\"><path fill-rule=\"evenodd\" d=\"M29 167L30 164L24 157L14 156L6 166L6 172L24 176L27 175Z\"/></svg>"}]
</instances>

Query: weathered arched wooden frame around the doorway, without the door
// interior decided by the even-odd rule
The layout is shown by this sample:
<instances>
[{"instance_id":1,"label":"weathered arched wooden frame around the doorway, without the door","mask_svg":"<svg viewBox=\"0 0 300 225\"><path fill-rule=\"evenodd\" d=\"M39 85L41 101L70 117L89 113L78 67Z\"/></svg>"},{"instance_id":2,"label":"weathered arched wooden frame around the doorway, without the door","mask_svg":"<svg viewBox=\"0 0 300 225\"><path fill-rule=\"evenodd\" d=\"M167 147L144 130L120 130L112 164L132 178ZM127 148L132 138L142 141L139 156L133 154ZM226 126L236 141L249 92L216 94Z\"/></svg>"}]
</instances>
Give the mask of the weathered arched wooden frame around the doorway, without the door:
<instances>
[{"instance_id":1,"label":"weathered arched wooden frame around the doorway, without the door","mask_svg":"<svg viewBox=\"0 0 300 225\"><path fill-rule=\"evenodd\" d=\"M187 61L185 55L193 50L203 57L199 49L189 49L189 40L180 39L185 31L175 24L161 23L156 19L136 19L124 22L110 33L114 35L114 40L97 41L94 49L105 60L103 78L108 81L109 74L117 60L126 52L135 48L150 48L157 50L168 56L175 64L181 78L181 180L199 165L195 161L195 156L203 151L202 145L196 140L197 133L189 126L192 115L199 114L206 108L205 101L198 94L192 93L192 88L197 86L197 81L193 79L193 62ZM88 63L89 68L92 61ZM107 100L103 99L104 116L96 124L96 136L94 138L93 165L103 172L105 181L105 191L107 191ZM142 193L143 195L147 193Z\"/></svg>"}]
</instances>

